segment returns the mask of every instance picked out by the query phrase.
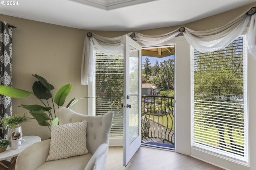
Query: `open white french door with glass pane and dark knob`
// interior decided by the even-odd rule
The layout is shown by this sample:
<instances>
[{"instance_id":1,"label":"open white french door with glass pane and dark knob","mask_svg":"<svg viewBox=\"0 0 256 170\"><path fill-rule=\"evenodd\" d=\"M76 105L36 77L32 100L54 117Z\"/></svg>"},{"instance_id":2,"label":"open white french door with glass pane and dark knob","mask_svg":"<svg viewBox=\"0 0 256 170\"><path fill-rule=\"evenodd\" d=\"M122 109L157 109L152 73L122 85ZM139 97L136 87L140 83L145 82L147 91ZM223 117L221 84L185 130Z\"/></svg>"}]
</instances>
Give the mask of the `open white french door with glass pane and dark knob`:
<instances>
[{"instance_id":1,"label":"open white french door with glass pane and dark knob","mask_svg":"<svg viewBox=\"0 0 256 170\"><path fill-rule=\"evenodd\" d=\"M141 46L124 35L124 166L141 145Z\"/></svg>"}]
</instances>

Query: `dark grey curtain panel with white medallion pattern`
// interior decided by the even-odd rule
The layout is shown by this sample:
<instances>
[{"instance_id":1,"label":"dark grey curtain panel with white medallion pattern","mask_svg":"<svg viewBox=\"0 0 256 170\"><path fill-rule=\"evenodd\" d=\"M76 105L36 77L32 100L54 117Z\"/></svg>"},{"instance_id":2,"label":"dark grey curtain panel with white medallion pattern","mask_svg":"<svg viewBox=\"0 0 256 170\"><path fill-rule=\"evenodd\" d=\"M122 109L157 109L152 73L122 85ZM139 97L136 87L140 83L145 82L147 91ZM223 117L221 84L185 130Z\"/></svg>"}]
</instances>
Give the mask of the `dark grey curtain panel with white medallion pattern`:
<instances>
[{"instance_id":1,"label":"dark grey curtain panel with white medallion pattern","mask_svg":"<svg viewBox=\"0 0 256 170\"><path fill-rule=\"evenodd\" d=\"M0 84L12 86L12 26L0 21ZM0 95L1 117L12 115L11 98ZM2 131L2 138L7 137L7 129Z\"/></svg>"}]
</instances>

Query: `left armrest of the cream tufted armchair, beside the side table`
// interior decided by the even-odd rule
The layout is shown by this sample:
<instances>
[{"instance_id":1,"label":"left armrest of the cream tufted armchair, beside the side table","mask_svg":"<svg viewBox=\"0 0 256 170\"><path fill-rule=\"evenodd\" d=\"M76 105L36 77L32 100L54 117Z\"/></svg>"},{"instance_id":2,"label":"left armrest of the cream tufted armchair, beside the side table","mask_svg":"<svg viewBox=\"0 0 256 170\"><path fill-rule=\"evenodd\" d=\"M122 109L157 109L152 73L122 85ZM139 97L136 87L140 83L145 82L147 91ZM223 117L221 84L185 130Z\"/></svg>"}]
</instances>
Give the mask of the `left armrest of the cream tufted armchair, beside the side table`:
<instances>
[{"instance_id":1,"label":"left armrest of the cream tufted armchair, beside the side table","mask_svg":"<svg viewBox=\"0 0 256 170\"><path fill-rule=\"evenodd\" d=\"M34 143L24 149L16 159L16 170L35 170L46 162L49 155L50 139Z\"/></svg>"}]
</instances>

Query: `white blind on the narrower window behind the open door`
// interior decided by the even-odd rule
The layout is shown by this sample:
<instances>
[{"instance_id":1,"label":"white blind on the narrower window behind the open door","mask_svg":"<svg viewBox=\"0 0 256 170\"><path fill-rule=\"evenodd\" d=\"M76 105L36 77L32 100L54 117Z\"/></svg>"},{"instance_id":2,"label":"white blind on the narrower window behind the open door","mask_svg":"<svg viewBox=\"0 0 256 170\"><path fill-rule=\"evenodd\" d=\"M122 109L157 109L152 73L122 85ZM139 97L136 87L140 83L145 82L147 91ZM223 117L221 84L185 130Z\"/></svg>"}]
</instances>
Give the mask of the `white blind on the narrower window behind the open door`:
<instances>
[{"instance_id":1,"label":"white blind on the narrower window behind the open door","mask_svg":"<svg viewBox=\"0 0 256 170\"><path fill-rule=\"evenodd\" d=\"M93 81L93 111L95 115L104 115L114 111L110 137L123 136L123 82L124 53L107 56L94 50L95 76Z\"/></svg>"}]
</instances>

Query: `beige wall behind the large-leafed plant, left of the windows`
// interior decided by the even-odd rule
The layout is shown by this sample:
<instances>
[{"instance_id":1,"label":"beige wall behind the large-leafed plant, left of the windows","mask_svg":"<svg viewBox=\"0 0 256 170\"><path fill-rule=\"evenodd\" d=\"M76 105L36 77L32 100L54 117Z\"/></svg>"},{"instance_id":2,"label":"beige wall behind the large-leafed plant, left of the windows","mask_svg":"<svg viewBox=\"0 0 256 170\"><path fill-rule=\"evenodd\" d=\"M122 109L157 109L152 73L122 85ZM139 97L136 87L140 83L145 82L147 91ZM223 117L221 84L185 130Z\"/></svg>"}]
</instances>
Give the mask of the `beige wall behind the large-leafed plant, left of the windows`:
<instances>
[{"instance_id":1,"label":"beige wall behind the large-leafed plant, left of the windows","mask_svg":"<svg viewBox=\"0 0 256 170\"><path fill-rule=\"evenodd\" d=\"M13 31L12 45L13 87L32 92L32 84L37 80L32 74L38 74L55 87L54 94L65 84L73 85L66 104L72 98L87 96L87 86L80 83L80 64L86 31L4 15L0 15L0 20L17 27ZM27 111L17 107L20 104L36 102L38 100L32 95L24 99L13 98L13 114ZM84 100L72 106L72 109L86 114L86 106ZM50 137L48 127L39 126L35 120L22 123L22 133L38 135L42 140Z\"/></svg>"}]
</instances>

